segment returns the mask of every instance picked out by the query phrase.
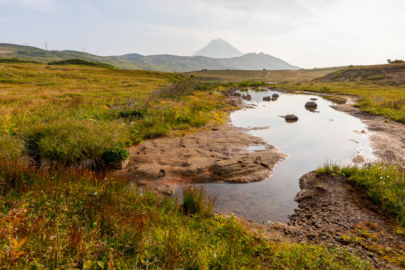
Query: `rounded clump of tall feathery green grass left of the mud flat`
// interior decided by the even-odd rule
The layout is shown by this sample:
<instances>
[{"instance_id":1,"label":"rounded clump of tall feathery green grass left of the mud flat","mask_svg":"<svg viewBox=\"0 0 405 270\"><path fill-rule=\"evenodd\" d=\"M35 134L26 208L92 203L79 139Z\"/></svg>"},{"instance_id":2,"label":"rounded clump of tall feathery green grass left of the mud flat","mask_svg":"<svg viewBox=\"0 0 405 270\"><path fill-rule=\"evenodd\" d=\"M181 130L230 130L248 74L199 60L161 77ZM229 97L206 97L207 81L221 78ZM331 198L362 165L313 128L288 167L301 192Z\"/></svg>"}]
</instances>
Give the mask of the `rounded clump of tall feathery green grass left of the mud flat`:
<instances>
[{"instance_id":1,"label":"rounded clump of tall feathery green grass left of the mud flat","mask_svg":"<svg viewBox=\"0 0 405 270\"><path fill-rule=\"evenodd\" d=\"M127 131L113 123L68 120L38 124L25 130L25 148L36 161L62 162L80 167L102 164L106 148L129 143Z\"/></svg>"}]
</instances>

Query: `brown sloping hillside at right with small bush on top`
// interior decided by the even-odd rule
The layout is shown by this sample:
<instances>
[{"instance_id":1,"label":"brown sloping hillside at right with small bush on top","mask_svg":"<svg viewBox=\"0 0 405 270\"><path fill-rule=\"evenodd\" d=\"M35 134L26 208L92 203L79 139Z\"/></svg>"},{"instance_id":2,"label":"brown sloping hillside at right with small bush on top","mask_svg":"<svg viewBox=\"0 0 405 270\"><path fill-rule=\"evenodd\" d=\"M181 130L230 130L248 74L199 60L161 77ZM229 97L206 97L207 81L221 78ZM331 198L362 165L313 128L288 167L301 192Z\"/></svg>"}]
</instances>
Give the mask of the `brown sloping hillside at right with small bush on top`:
<instances>
[{"instance_id":1,"label":"brown sloping hillside at right with small bush on top","mask_svg":"<svg viewBox=\"0 0 405 270\"><path fill-rule=\"evenodd\" d=\"M358 82L358 81L378 81L405 83L405 64L385 64L372 66L353 66L346 69L337 70L314 82Z\"/></svg>"}]
</instances>

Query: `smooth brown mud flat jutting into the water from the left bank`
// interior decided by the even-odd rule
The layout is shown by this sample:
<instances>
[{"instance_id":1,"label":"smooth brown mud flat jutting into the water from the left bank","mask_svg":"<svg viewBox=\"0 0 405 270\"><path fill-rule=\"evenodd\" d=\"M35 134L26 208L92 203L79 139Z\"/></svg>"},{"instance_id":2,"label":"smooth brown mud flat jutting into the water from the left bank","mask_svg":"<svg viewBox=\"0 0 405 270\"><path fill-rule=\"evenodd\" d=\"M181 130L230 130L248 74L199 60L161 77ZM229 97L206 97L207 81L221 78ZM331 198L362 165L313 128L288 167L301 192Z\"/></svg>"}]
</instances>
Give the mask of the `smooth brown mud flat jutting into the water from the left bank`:
<instances>
[{"instance_id":1,"label":"smooth brown mud flat jutting into the water from the left bank","mask_svg":"<svg viewBox=\"0 0 405 270\"><path fill-rule=\"evenodd\" d=\"M255 107L235 97L235 90L225 93L223 112L214 115L214 120L205 127L194 133L174 132L172 136L131 147L129 165L124 170L108 168L107 174L126 176L168 193L174 192L178 183L253 182L268 178L288 155L264 139L247 134L251 129L267 127L242 129L227 120L229 113L236 109ZM249 151L250 146L265 146L265 149Z\"/></svg>"}]
</instances>

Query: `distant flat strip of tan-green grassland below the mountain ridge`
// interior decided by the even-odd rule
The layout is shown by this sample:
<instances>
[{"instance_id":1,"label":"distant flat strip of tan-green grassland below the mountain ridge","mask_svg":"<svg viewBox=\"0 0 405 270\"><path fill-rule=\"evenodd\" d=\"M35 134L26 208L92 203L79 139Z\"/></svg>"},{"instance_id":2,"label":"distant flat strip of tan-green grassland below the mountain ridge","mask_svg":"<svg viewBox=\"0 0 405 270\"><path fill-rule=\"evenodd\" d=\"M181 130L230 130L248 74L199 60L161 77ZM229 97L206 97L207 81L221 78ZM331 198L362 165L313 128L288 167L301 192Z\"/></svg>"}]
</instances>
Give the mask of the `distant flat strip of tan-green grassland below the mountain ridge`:
<instances>
[{"instance_id":1,"label":"distant flat strip of tan-green grassland below the mountain ridge","mask_svg":"<svg viewBox=\"0 0 405 270\"><path fill-rule=\"evenodd\" d=\"M300 70L202 70L180 74L186 76L194 74L195 79L201 81L241 82L249 80L260 82L297 82L309 81L346 67L347 66Z\"/></svg>"}]
</instances>

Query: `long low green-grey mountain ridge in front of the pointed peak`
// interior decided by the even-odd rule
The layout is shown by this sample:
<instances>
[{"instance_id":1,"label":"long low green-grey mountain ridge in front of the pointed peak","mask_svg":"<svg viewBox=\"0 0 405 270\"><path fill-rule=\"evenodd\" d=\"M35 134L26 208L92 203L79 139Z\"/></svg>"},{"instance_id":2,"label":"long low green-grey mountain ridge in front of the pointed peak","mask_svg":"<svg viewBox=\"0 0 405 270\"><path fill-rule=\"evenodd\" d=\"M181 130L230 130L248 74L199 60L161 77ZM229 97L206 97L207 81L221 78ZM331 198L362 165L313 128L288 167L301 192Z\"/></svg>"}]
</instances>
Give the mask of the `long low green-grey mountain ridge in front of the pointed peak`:
<instances>
[{"instance_id":1,"label":"long low green-grey mountain ridge in front of the pointed peak","mask_svg":"<svg viewBox=\"0 0 405 270\"><path fill-rule=\"evenodd\" d=\"M279 70L300 69L298 66L264 53L249 53L240 57L210 58L206 56L176 56L126 54L121 56L102 57L77 51L47 51L31 46L0 44L0 58L20 58L43 62L67 59L111 64L121 69L141 69L163 72L187 72L201 69L242 69L242 70Z\"/></svg>"}]
</instances>

